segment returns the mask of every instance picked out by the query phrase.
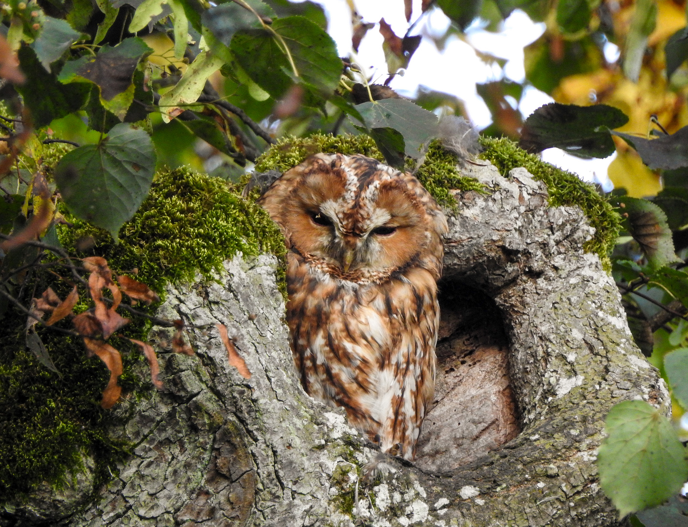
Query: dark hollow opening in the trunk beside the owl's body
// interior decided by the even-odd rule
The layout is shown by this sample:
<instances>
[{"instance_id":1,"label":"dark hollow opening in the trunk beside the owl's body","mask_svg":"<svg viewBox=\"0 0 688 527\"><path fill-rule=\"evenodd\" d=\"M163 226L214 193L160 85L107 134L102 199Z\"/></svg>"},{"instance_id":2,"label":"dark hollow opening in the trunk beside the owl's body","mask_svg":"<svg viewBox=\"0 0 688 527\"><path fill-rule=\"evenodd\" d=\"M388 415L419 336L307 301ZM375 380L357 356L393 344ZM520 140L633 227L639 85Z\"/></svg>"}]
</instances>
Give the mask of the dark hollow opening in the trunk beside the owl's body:
<instances>
[{"instance_id":1,"label":"dark hollow opening in the trunk beside the owl's body","mask_svg":"<svg viewBox=\"0 0 688 527\"><path fill-rule=\"evenodd\" d=\"M444 472L477 460L520 432L502 315L485 293L442 280L435 396L416 464Z\"/></svg>"}]
</instances>

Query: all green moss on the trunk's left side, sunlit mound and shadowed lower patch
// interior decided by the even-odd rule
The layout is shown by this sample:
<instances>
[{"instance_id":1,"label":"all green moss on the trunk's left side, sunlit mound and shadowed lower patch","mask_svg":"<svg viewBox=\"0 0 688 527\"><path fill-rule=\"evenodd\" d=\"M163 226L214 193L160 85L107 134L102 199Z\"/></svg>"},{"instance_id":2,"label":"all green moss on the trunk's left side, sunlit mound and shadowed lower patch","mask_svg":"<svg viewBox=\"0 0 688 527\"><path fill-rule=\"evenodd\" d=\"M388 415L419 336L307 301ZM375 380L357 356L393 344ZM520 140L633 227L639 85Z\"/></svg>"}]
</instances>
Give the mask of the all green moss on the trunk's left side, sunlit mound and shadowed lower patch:
<instances>
[{"instance_id":1,"label":"all green moss on the trunk's left side, sunlit mound and shadowed lower patch","mask_svg":"<svg viewBox=\"0 0 688 527\"><path fill-rule=\"evenodd\" d=\"M196 271L210 278L239 251L244 256L272 253L282 261L286 254L279 228L254 201L241 198L220 179L184 168L157 175L149 197L120 230L118 245L103 229L66 216L71 225L58 228L64 247L76 252L74 247L92 236L94 245L79 256L104 256L114 271L137 268L137 278L160 293L167 282L193 279ZM24 289L30 293L35 287L34 295L39 295L49 286L61 298L71 289L47 272L34 276ZM27 298L23 301L28 303ZM80 302L75 311L87 307ZM154 309L151 306L151 313ZM109 379L103 363L97 357L87 359L79 339L39 327L60 374L51 372L25 349L24 324L25 316L10 309L0 325L2 500L21 498L43 480L61 486L67 471L81 468L81 452L94 456L96 478L104 480L128 446L107 434L116 414L100 408ZM67 319L58 324L71 328ZM118 333L145 339L149 329L146 319L133 317ZM150 383L142 383L133 371L144 361L138 348L115 337L111 344L122 352L120 385L125 392L145 396Z\"/></svg>"}]
</instances>

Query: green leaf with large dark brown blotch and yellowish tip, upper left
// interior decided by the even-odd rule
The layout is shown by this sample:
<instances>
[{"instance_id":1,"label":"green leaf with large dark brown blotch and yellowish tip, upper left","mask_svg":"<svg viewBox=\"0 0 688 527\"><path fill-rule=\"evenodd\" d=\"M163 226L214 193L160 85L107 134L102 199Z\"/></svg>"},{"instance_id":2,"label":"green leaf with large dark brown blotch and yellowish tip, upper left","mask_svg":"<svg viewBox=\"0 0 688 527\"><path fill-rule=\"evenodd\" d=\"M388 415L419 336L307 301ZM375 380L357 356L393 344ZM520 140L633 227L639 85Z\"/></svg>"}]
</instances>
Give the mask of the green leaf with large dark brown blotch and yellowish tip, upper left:
<instances>
[{"instance_id":1,"label":"green leaf with large dark brown blotch and yellowish tip, upper left","mask_svg":"<svg viewBox=\"0 0 688 527\"><path fill-rule=\"evenodd\" d=\"M100 89L100 102L120 120L127 115L136 87L133 74L141 60L153 53L140 38L125 38L116 47L104 45L93 56L70 60L60 72L62 82L89 80Z\"/></svg>"}]
</instances>

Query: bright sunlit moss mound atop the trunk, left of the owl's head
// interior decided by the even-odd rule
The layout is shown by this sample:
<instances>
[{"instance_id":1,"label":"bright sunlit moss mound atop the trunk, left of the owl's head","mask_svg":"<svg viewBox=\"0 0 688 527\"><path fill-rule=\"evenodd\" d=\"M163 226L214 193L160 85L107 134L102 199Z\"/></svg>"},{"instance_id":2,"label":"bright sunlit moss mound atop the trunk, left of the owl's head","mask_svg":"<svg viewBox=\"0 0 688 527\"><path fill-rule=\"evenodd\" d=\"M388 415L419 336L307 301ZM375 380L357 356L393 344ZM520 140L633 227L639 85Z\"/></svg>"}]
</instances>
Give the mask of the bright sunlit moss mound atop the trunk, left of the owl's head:
<instances>
[{"instance_id":1,"label":"bright sunlit moss mound atop the trunk, left of the owl's head","mask_svg":"<svg viewBox=\"0 0 688 527\"><path fill-rule=\"evenodd\" d=\"M279 228L257 203L225 181L187 168L157 175L146 201L120 229L118 245L105 230L69 219L72 227L59 229L65 247L92 236L94 254L107 258L112 269L138 269L138 280L158 292L167 282L192 280L196 271L210 278L238 252L286 254Z\"/></svg>"}]
</instances>

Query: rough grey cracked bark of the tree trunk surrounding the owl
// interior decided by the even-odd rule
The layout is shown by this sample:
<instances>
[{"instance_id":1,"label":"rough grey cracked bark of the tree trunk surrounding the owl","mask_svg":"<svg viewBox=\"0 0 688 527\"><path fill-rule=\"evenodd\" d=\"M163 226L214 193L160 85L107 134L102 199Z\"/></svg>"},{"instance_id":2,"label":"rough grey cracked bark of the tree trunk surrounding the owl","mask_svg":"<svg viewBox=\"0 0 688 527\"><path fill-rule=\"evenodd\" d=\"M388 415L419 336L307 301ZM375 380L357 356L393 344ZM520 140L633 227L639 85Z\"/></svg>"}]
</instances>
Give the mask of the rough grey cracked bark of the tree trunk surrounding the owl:
<instances>
[{"instance_id":1,"label":"rough grey cracked bark of the tree trunk surrounding the owl","mask_svg":"<svg viewBox=\"0 0 688 527\"><path fill-rule=\"evenodd\" d=\"M471 445L470 434L436 420L416 466L389 459L385 478L360 479L374 446L347 425L341 410L301 390L275 258L237 257L226 262L220 284L170 287L161 316L213 325L189 335L195 357L160 353L164 392L116 407L131 418L111 433L136 444L132 456L94 494L88 471L65 491L39 489L15 509L19 524L616 524L594 465L603 418L628 399L663 405L665 385L632 340L614 282L596 255L583 252L592 233L583 212L549 208L544 185L522 168L509 179L489 165L464 172L489 192L458 192L458 211L448 212L443 284L458 290L466 284L496 305L507 342L495 348L502 358L474 355L508 367L490 383L508 391L497 406L511 404L504 412L514 419L518 412L519 434L502 434L501 446L499 434ZM228 327L251 379L229 366L216 323ZM169 330L153 328L158 349L170 338ZM455 372L450 362L438 371ZM476 399L460 383L442 382L442 394L458 392L442 396L428 420ZM462 407L476 422L484 423L483 411ZM462 442L461 452L454 441Z\"/></svg>"}]
</instances>

